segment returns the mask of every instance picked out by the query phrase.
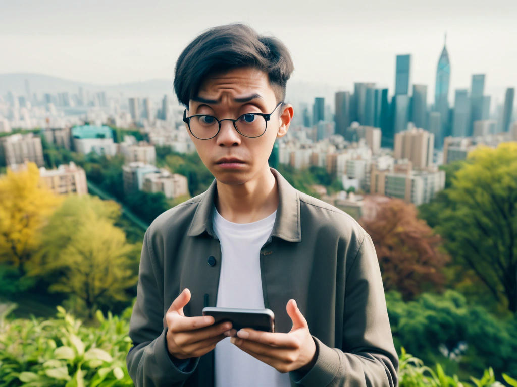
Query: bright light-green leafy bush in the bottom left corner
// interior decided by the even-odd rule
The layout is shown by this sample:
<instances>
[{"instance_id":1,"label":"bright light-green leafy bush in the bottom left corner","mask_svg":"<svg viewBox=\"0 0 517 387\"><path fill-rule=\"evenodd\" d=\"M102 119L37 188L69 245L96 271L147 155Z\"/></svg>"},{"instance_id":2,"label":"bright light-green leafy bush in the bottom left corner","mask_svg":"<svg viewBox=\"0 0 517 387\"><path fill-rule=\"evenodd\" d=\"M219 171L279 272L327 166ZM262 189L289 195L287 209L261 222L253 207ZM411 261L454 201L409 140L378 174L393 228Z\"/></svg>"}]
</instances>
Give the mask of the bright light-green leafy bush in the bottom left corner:
<instances>
[{"instance_id":1,"label":"bright light-green leafy bush in the bottom left corner","mask_svg":"<svg viewBox=\"0 0 517 387\"><path fill-rule=\"evenodd\" d=\"M58 307L56 319L0 320L0 386L132 386L128 320L96 317L85 327Z\"/></svg>"}]
</instances>

